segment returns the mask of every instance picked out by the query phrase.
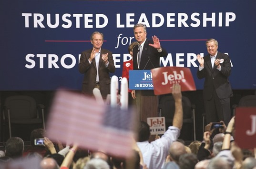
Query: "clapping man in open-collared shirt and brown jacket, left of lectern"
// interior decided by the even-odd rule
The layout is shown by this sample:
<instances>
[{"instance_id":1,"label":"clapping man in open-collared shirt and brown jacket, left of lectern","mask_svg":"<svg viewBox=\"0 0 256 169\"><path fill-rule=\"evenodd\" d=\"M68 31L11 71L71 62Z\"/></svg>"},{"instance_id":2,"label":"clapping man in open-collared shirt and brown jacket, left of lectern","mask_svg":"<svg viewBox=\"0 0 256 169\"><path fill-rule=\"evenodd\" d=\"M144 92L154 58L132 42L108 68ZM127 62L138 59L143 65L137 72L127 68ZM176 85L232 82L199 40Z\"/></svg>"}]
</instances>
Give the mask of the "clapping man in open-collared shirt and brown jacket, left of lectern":
<instances>
[{"instance_id":1,"label":"clapping man in open-collared shirt and brown jacket, left of lectern","mask_svg":"<svg viewBox=\"0 0 256 169\"><path fill-rule=\"evenodd\" d=\"M79 72L84 74L82 81L82 93L92 96L92 90L98 88L102 98L106 99L110 94L110 75L115 72L112 52L102 49L103 34L93 32L91 35L92 49L85 50L81 54Z\"/></svg>"}]
</instances>

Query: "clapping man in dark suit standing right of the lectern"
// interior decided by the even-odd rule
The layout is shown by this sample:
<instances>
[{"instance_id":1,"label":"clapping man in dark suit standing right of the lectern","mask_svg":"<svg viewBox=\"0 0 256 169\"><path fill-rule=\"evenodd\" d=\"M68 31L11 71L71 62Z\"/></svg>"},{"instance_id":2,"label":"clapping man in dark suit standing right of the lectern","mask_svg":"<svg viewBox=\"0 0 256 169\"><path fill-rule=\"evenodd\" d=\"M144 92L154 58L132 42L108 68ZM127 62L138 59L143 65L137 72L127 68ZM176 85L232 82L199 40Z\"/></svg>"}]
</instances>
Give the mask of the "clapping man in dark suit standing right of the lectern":
<instances>
[{"instance_id":1,"label":"clapping man in dark suit standing right of the lectern","mask_svg":"<svg viewBox=\"0 0 256 169\"><path fill-rule=\"evenodd\" d=\"M198 79L205 78L203 97L205 103L206 121L224 121L227 125L231 119L230 97L233 96L228 77L231 73L229 56L218 52L218 42L215 39L206 41L208 55L197 55L199 70Z\"/></svg>"}]
</instances>

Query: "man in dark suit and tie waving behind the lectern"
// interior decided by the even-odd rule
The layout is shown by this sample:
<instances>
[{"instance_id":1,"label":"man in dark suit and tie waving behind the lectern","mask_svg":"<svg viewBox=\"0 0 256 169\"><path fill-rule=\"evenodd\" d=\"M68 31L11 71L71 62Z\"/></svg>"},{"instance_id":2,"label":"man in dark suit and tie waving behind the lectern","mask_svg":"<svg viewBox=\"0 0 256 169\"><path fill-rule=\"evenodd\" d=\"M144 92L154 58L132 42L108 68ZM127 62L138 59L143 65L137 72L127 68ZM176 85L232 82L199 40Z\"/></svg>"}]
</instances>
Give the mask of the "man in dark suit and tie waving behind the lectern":
<instances>
[{"instance_id":1,"label":"man in dark suit and tie waving behind the lectern","mask_svg":"<svg viewBox=\"0 0 256 169\"><path fill-rule=\"evenodd\" d=\"M168 55L167 51L161 48L160 41L156 36L153 36L152 40L147 40L146 29L146 26L141 23L133 27L134 38L139 43L133 48L133 70L158 68L160 67L160 57ZM132 97L133 99L137 98L137 109L142 120L146 121L146 117L157 116L155 111L157 111L158 98L154 95L154 90L133 90ZM143 109L142 106L149 108L149 110ZM144 115L140 115L141 111L144 112Z\"/></svg>"}]
</instances>

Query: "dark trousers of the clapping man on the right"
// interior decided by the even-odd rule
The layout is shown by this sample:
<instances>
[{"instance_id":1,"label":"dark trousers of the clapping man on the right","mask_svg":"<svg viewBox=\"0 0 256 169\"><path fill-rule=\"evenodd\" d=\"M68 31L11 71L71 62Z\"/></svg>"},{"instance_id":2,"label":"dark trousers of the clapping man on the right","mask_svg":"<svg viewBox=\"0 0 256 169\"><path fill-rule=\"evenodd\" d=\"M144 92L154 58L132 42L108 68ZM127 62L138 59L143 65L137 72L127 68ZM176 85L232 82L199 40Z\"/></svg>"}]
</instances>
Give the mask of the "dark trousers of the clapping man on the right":
<instances>
[{"instance_id":1,"label":"dark trousers of the clapping man on the right","mask_svg":"<svg viewBox=\"0 0 256 169\"><path fill-rule=\"evenodd\" d=\"M231 119L230 98L219 99L214 90L212 99L204 100L204 102L207 124L224 121L227 126Z\"/></svg>"}]
</instances>

